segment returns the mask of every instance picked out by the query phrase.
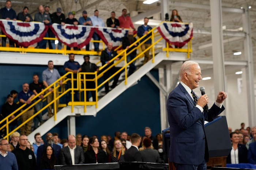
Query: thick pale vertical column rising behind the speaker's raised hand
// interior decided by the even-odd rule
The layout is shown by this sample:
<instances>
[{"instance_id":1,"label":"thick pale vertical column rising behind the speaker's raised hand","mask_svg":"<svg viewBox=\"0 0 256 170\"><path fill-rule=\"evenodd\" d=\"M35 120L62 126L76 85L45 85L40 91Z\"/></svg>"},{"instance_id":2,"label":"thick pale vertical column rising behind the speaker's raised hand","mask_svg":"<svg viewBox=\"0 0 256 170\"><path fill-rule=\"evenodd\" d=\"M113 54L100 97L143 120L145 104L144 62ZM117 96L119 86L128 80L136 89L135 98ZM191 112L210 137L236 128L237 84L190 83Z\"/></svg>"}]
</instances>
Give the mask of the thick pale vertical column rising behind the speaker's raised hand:
<instances>
[{"instance_id":1,"label":"thick pale vertical column rising behind the speaker's raised hand","mask_svg":"<svg viewBox=\"0 0 256 170\"><path fill-rule=\"evenodd\" d=\"M210 0L214 92L226 92L221 0ZM225 113L224 113L225 115Z\"/></svg>"}]
</instances>

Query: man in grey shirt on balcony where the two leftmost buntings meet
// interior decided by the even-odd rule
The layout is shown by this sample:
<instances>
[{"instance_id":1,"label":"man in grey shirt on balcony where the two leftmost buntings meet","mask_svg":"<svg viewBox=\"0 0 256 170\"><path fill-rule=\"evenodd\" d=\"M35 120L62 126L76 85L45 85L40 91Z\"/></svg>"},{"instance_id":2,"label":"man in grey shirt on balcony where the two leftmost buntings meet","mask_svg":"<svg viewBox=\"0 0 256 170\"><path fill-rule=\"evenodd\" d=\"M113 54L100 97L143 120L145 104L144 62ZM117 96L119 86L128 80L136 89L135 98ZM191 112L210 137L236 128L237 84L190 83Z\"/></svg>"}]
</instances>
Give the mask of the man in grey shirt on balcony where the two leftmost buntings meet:
<instances>
[{"instance_id":1,"label":"man in grey shirt on balcony where the two leftmost buntings meet","mask_svg":"<svg viewBox=\"0 0 256 170\"><path fill-rule=\"evenodd\" d=\"M44 7L42 5L38 7L38 11L38 13L35 13L34 21L42 22L45 24L49 24L52 22L49 13L45 13ZM49 37L48 32L46 32L45 37ZM35 48L46 49L46 42L47 40L45 39L41 40L37 43L37 46Z\"/></svg>"}]
</instances>

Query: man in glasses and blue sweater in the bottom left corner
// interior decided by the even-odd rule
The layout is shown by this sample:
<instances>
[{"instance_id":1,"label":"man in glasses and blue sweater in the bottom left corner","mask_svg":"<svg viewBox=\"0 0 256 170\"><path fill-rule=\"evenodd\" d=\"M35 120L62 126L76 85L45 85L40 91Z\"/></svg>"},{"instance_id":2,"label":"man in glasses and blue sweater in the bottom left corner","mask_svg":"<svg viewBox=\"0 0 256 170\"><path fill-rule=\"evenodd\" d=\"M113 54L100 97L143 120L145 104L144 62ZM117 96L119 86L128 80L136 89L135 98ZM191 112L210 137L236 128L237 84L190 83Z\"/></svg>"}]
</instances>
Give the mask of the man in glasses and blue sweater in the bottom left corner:
<instances>
[{"instance_id":1,"label":"man in glasses and blue sweater in the bottom left corner","mask_svg":"<svg viewBox=\"0 0 256 170\"><path fill-rule=\"evenodd\" d=\"M7 139L0 139L0 165L4 170L18 170L16 157L9 152L10 144Z\"/></svg>"}]
</instances>

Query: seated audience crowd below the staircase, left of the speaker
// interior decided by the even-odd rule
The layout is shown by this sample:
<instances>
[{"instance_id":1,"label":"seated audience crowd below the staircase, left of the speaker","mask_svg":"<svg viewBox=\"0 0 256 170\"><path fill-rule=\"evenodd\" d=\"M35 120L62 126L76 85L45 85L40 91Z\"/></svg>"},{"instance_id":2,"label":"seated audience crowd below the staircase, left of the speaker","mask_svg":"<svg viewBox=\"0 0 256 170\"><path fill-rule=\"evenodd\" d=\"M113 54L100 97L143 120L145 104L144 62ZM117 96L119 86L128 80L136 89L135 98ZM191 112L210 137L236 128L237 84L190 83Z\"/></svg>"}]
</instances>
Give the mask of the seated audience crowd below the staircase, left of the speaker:
<instances>
[{"instance_id":1,"label":"seated audience crowd below the staircase, left of the speaker","mask_svg":"<svg viewBox=\"0 0 256 170\"><path fill-rule=\"evenodd\" d=\"M60 139L57 133L47 133L42 140L34 135L30 144L26 135L14 132L10 141L0 139L0 162L5 170L50 170L54 165L77 165L111 162L167 163L162 150L162 135L152 136L150 127L144 128L145 136L115 132L115 136L68 135ZM4 163L3 163L4 162Z\"/></svg>"}]
</instances>

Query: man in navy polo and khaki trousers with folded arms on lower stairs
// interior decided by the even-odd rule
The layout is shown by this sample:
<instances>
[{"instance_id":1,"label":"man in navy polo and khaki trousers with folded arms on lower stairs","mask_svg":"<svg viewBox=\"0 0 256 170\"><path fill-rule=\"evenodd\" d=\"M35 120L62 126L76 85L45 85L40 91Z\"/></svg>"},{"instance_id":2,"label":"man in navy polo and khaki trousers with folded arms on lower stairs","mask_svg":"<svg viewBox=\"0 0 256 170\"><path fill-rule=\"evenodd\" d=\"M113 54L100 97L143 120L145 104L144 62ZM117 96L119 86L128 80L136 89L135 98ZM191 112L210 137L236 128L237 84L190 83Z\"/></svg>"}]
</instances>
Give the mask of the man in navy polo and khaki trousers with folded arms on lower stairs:
<instances>
[{"instance_id":1,"label":"man in navy polo and khaki trousers with folded arms on lower stairs","mask_svg":"<svg viewBox=\"0 0 256 170\"><path fill-rule=\"evenodd\" d=\"M25 110L26 108L28 108L33 103L33 101L31 101L31 99L34 96L35 96L35 94L29 90L29 84L24 83L22 85L22 91L19 92L19 94L18 94L20 106L22 106L23 104L26 104L25 107L23 107L21 109L21 112L23 110ZM33 114L34 114L34 108L32 107L20 116L21 123L25 122L27 119L29 119L31 116L33 116ZM26 135L26 136L29 135L31 133L32 123L33 123L33 119L31 119L25 125L23 125L20 128L20 134Z\"/></svg>"}]
</instances>

